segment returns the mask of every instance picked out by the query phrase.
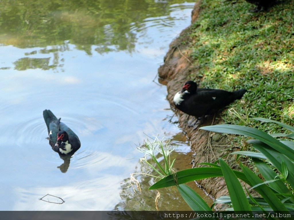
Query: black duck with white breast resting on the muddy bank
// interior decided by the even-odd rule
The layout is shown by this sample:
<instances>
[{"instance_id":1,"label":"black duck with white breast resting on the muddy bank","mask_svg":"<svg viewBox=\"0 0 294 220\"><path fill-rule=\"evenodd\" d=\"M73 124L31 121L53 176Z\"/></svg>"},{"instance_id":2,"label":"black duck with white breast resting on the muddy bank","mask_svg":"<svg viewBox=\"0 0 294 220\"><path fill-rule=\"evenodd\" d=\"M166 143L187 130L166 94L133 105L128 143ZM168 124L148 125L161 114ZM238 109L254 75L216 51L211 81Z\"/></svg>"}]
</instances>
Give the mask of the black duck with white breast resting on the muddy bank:
<instances>
[{"instance_id":1,"label":"black duck with white breast resting on the muddy bank","mask_svg":"<svg viewBox=\"0 0 294 220\"><path fill-rule=\"evenodd\" d=\"M188 81L182 90L173 97L173 102L179 110L188 115L202 117L216 113L236 99L241 99L246 89L228 92L221 89L197 89L196 82Z\"/></svg>"}]
</instances>

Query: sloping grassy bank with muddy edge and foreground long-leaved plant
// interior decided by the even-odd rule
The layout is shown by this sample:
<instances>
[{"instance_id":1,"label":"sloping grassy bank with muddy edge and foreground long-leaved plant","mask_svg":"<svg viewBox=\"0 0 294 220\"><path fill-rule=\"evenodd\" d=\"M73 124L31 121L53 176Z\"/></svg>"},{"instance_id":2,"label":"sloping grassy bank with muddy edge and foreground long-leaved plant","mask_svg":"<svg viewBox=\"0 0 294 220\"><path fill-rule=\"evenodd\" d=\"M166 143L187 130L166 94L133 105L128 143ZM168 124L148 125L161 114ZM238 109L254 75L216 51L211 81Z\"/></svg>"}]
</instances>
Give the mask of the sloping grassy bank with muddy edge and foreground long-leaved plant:
<instances>
[{"instance_id":1,"label":"sloping grassy bank with muddy edge and foreground long-leaved plant","mask_svg":"<svg viewBox=\"0 0 294 220\"><path fill-rule=\"evenodd\" d=\"M219 125L194 129L186 125L186 115L180 112L179 126L190 138L191 148L195 151L193 163L196 164L196 167L164 177L150 189L177 185L179 192L182 192L183 199L192 210L209 210L210 207L197 206L197 202L191 202L192 200L200 201L198 204L203 204L192 190L181 188L181 183L196 180L215 198L228 199L228 197L222 197L227 194L226 189L228 189L234 210L258 209L259 202L251 198L246 199L245 195L248 195L249 192L242 189L244 185L238 180L240 176L231 175L233 172L243 173L242 175L245 175L247 179L243 177L239 179L250 187L254 186L250 192L252 196L266 201L272 210L287 210L288 208L284 207L283 203L291 198L290 209L294 210L293 187L290 187L290 190L287 189L287 193L277 190L279 192L276 194L267 186L274 182L274 187L277 184L286 191L289 186L287 181L290 177L288 175L293 173L288 172L285 166L285 161L289 161L289 158L294 155L291 148L293 128L282 125L290 128L286 130L280 126L281 124L279 125L279 122L294 125L293 6L293 0L285 0L268 11L252 13L250 10L255 6L244 0L201 0L198 19L191 27L182 32L180 37L182 45L179 45L179 39L171 43L171 50L159 70L160 77L169 80L168 100L172 101L176 91L174 87L178 88L187 74L190 74L187 79L195 79L200 87L229 91L246 88L248 92L240 101L235 101L218 114L217 117L223 119L223 121L215 121ZM265 119L253 119L255 117ZM267 119L273 119L276 122L264 123L268 121ZM238 125L246 125L246 127ZM213 143L211 141L213 134L207 131L233 135L224 135L222 136L224 138L220 139L223 142L217 140ZM291 133L291 135L286 137L288 138L286 141L284 139L280 141L280 137L275 139L268 135L268 133L279 132ZM238 136L235 136L236 134ZM257 140L249 140L252 138ZM285 146L286 144L289 146ZM236 150L235 147L241 150ZM236 151L235 154L241 156L227 155L232 151ZM268 165L264 161L265 158L268 161L275 161L275 165L272 162L270 162L271 165ZM212 164L215 162L216 164ZM291 162L288 165L293 168ZM230 167L235 170L231 172ZM267 172L261 174L263 168L271 173L270 177L267 176ZM253 169L254 172L250 169ZM255 173L257 170L258 172ZM220 175L215 175L217 172ZM211 176L208 176L210 174ZM209 179L222 175L224 179ZM263 177L260 179L261 175ZM275 182L276 178L279 178L279 182ZM249 179L254 179L254 181L250 182ZM234 181L233 184L232 181ZM258 185L262 182L264 183ZM258 187L255 187L256 185ZM250 191L250 187L246 189ZM267 188L265 190L267 192L263 189L260 191L260 188ZM243 199L240 199L241 194ZM194 199L191 199L192 197ZM250 205L247 202L246 204L239 203L246 200ZM218 200L216 203L220 203L217 209L226 208L221 205L223 201Z\"/></svg>"}]
</instances>

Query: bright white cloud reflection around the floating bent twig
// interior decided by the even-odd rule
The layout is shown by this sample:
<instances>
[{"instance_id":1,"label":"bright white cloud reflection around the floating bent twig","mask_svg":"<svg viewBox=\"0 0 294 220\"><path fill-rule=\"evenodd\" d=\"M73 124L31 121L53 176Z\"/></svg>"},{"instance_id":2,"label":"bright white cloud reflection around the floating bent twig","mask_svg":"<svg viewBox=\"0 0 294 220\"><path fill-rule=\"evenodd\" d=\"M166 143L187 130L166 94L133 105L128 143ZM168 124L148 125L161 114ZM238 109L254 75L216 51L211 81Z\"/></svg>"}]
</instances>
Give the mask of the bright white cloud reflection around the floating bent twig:
<instances>
[{"instance_id":1,"label":"bright white cloud reflection around the floating bent twig","mask_svg":"<svg viewBox=\"0 0 294 220\"><path fill-rule=\"evenodd\" d=\"M110 207L120 200L118 197L113 196L119 193L120 181L116 175L106 174L103 177L91 180L67 182L66 185L62 186L16 187L14 194L17 200L14 201L11 208L13 210L27 211L110 210ZM107 182L108 185L104 185L104 182ZM111 194L109 193L109 188L112 188ZM46 194L60 197L65 202L60 205L39 200Z\"/></svg>"}]
</instances>

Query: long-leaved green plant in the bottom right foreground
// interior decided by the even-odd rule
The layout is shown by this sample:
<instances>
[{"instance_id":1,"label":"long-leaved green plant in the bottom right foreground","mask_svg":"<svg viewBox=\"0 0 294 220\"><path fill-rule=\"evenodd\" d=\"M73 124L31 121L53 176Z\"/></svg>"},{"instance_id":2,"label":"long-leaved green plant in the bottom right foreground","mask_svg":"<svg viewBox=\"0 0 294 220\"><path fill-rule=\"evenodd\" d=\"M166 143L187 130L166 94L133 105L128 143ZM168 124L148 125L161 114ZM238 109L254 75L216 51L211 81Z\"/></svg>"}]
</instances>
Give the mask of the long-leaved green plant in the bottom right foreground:
<instances>
[{"instance_id":1,"label":"long-leaved green plant in the bottom right foreground","mask_svg":"<svg viewBox=\"0 0 294 220\"><path fill-rule=\"evenodd\" d=\"M238 134L256 139L249 139L247 142L252 145L258 153L239 151L232 154L246 155L253 158L253 164L257 167L258 173L254 173L243 164L239 164L241 171L231 169L222 159L217 163L203 163L206 167L196 167L182 170L168 175L156 182L149 189L176 186L181 192L183 199L192 210L211 211L211 207L202 204L201 198L195 192L184 185L186 182L223 176L228 187L229 197L220 197L216 203L227 203L234 211L294 211L294 127L264 118L255 118L263 122L273 122L289 130L290 134L284 135L286 140L278 140L273 136L256 128L238 125L214 125L205 126L201 129ZM258 175L261 175L260 178ZM245 191L239 180L250 186ZM254 190L259 197L253 197L250 192Z\"/></svg>"}]
</instances>

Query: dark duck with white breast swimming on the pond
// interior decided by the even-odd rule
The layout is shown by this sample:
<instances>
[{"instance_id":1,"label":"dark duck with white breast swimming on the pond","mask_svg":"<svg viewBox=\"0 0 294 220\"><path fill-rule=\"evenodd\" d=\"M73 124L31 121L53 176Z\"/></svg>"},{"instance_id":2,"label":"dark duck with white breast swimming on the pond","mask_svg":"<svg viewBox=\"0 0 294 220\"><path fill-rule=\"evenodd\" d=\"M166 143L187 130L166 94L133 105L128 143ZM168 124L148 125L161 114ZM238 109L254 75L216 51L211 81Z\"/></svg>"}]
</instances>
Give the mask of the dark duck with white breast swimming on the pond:
<instances>
[{"instance_id":1,"label":"dark duck with white breast swimming on the pond","mask_svg":"<svg viewBox=\"0 0 294 220\"><path fill-rule=\"evenodd\" d=\"M60 122L50 110L44 110L43 116L49 134L49 144L59 155L73 155L80 147L78 136L64 123Z\"/></svg>"}]
</instances>

